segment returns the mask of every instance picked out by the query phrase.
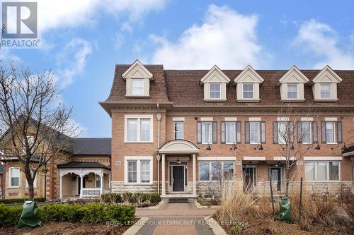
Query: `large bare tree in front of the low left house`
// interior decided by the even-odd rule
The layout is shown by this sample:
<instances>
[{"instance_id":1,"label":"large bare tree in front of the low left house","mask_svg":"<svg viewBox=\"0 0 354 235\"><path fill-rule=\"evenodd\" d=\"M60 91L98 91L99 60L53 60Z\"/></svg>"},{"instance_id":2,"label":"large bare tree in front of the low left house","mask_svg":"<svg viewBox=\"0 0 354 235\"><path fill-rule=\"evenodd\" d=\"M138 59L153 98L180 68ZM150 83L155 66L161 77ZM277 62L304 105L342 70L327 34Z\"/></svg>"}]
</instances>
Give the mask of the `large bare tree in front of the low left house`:
<instances>
[{"instance_id":1,"label":"large bare tree in front of the low left house","mask_svg":"<svg viewBox=\"0 0 354 235\"><path fill-rule=\"evenodd\" d=\"M28 68L0 64L0 148L20 163L34 197L33 181L40 169L63 157L72 145L77 127L70 121L72 108L58 102L50 71L30 73Z\"/></svg>"}]
</instances>

